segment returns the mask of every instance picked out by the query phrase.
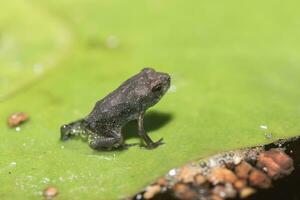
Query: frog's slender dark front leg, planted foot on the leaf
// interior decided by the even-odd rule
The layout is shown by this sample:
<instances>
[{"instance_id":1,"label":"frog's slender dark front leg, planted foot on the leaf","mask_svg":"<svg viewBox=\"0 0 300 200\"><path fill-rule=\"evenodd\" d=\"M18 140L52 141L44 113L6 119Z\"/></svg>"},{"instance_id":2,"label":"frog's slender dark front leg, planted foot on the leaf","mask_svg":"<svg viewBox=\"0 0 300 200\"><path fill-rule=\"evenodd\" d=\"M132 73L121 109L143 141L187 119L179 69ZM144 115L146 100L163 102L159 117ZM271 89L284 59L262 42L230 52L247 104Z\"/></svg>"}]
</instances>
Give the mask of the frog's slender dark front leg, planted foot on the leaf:
<instances>
[{"instance_id":1,"label":"frog's slender dark front leg, planted foot on the leaf","mask_svg":"<svg viewBox=\"0 0 300 200\"><path fill-rule=\"evenodd\" d=\"M145 129L144 129L144 112L139 114L138 117L138 134L139 136L145 141L147 148L149 149L154 149L157 146L164 144L162 142L163 138L161 138L160 140L158 140L157 142L153 142L151 140L151 138L148 136L148 134L146 133Z\"/></svg>"}]
</instances>

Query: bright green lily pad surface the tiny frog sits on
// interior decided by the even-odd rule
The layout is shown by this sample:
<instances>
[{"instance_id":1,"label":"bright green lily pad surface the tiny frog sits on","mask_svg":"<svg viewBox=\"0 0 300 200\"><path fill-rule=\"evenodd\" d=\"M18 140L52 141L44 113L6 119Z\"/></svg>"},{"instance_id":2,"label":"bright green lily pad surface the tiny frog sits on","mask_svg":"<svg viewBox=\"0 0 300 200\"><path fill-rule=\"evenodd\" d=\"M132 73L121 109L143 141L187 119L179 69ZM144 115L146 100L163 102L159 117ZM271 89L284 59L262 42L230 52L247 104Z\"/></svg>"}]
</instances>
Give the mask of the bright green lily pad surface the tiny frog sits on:
<instances>
[{"instance_id":1,"label":"bright green lily pad surface the tiny frog sits on","mask_svg":"<svg viewBox=\"0 0 300 200\"><path fill-rule=\"evenodd\" d=\"M120 199L167 170L300 132L297 1L4 1L0 8L0 197ZM165 144L96 152L59 141L122 81L172 76L146 115ZM13 112L30 119L19 131ZM135 123L126 143L139 143ZM266 137L268 136L268 137Z\"/></svg>"}]
</instances>

